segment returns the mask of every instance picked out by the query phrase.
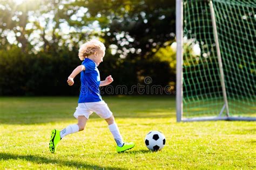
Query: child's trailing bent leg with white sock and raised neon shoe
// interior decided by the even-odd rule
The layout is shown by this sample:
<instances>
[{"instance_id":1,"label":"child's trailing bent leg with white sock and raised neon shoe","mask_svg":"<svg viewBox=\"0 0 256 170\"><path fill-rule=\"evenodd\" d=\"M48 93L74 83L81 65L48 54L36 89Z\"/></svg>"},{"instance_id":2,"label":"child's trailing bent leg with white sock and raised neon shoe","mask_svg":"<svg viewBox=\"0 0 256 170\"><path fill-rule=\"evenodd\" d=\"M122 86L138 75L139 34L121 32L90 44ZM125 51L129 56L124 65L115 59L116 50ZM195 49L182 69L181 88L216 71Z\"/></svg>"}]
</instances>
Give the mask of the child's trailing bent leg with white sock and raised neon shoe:
<instances>
[{"instance_id":1,"label":"child's trailing bent leg with white sock and raised neon shoe","mask_svg":"<svg viewBox=\"0 0 256 170\"><path fill-rule=\"evenodd\" d=\"M78 124L69 125L62 131L53 129L51 132L51 139L49 143L49 148L51 153L55 153L57 150L57 144L59 141L68 134L75 133L84 130L87 118L84 116L78 116Z\"/></svg>"}]
</instances>

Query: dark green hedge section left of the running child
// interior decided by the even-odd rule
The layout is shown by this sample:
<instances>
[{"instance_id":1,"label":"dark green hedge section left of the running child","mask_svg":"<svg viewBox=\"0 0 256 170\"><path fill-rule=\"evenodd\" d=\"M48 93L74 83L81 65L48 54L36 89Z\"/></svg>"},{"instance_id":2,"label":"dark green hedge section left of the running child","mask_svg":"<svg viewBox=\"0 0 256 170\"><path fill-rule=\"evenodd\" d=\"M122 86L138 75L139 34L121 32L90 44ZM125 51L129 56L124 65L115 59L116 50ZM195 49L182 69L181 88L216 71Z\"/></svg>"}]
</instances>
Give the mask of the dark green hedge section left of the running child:
<instances>
[{"instance_id":1,"label":"dark green hedge section left of the running child","mask_svg":"<svg viewBox=\"0 0 256 170\"><path fill-rule=\"evenodd\" d=\"M66 79L79 65L72 52L24 54L20 48L0 51L0 95L71 95ZM76 90L74 90L76 89Z\"/></svg>"}]
</instances>

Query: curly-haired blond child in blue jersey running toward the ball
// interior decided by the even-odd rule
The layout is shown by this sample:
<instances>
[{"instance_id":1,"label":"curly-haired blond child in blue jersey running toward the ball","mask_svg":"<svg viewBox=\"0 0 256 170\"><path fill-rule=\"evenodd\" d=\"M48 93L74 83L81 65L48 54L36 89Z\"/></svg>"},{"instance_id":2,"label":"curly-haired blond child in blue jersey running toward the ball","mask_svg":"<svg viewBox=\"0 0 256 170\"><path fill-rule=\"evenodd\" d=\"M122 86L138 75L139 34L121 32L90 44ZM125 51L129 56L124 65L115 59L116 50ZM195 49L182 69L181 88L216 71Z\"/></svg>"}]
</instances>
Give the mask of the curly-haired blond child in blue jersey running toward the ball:
<instances>
[{"instance_id":1,"label":"curly-haired blond child in blue jersey running toward the ball","mask_svg":"<svg viewBox=\"0 0 256 170\"><path fill-rule=\"evenodd\" d=\"M105 81L100 81L99 66L100 62L103 62L105 55L105 46L98 40L91 40L86 42L79 48L79 59L82 60L82 65L78 66L68 77L68 84L72 86L74 84L74 78L77 74L81 73L81 89L78 100L78 107L74 113L74 116L78 119L77 124L72 124L64 128L62 131L52 130L49 148L51 153L55 153L58 142L68 134L75 133L84 130L87 120L92 112L96 112L97 115L104 118L109 129L117 143L117 152L123 152L134 147L134 143L124 143L123 138L119 132L118 126L114 121L112 112L107 104L102 100L100 96L99 87L107 86L113 82L113 78L107 76Z\"/></svg>"}]
</instances>

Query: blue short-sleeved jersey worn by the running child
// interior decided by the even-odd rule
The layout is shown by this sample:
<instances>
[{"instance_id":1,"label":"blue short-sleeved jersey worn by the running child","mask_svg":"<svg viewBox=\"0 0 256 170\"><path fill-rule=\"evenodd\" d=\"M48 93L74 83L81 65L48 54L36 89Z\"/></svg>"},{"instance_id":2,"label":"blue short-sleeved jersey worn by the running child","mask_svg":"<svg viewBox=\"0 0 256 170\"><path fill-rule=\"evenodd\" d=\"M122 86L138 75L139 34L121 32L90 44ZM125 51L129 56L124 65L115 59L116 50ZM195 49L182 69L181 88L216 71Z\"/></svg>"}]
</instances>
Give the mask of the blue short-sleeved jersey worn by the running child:
<instances>
[{"instance_id":1,"label":"blue short-sleeved jersey worn by the running child","mask_svg":"<svg viewBox=\"0 0 256 170\"><path fill-rule=\"evenodd\" d=\"M81 88L78 103L102 101L99 91L100 76L96 63L85 58L82 65L85 70L80 73Z\"/></svg>"}]
</instances>

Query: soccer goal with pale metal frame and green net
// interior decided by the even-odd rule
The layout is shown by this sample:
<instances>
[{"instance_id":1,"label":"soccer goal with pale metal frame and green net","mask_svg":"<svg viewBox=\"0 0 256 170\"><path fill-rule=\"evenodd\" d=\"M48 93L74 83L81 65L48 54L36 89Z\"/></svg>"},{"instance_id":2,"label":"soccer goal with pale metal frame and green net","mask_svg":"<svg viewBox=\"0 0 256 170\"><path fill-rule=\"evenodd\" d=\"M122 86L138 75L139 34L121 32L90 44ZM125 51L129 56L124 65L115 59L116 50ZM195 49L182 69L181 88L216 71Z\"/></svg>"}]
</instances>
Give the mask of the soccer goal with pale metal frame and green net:
<instances>
[{"instance_id":1,"label":"soccer goal with pale metal frame and green net","mask_svg":"<svg viewBox=\"0 0 256 170\"><path fill-rule=\"evenodd\" d=\"M256 121L255 9L177 0L177 121Z\"/></svg>"}]
</instances>

